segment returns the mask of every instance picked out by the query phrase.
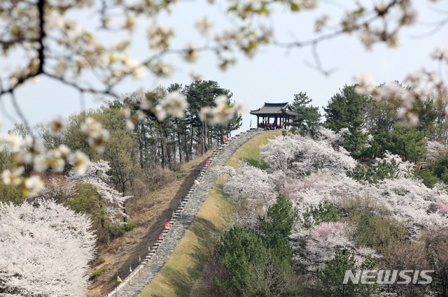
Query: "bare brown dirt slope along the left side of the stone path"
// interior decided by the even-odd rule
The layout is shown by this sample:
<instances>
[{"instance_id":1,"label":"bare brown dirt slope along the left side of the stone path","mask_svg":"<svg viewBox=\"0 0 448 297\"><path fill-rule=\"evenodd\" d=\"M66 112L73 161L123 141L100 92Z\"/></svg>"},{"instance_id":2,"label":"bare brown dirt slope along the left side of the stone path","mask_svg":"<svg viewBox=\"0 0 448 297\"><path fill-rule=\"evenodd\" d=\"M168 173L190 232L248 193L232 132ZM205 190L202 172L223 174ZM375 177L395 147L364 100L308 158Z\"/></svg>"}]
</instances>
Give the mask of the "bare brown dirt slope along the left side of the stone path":
<instances>
[{"instance_id":1,"label":"bare brown dirt slope along the left side of the stone path","mask_svg":"<svg viewBox=\"0 0 448 297\"><path fill-rule=\"evenodd\" d=\"M134 213L131 221L139 225L136 229L125 234L123 238L113 240L109 247L104 249L92 264L90 274L105 269L104 273L90 283L90 297L103 297L105 289L112 291L117 285L117 276L122 280L130 274L148 253L162 232L165 222L172 217L172 212L179 206L181 196L187 194L195 178L204 166L204 160L211 152L190 161L183 168L190 172L186 178L174 180L158 191L153 191L148 197L139 201L131 201Z\"/></svg>"}]
</instances>

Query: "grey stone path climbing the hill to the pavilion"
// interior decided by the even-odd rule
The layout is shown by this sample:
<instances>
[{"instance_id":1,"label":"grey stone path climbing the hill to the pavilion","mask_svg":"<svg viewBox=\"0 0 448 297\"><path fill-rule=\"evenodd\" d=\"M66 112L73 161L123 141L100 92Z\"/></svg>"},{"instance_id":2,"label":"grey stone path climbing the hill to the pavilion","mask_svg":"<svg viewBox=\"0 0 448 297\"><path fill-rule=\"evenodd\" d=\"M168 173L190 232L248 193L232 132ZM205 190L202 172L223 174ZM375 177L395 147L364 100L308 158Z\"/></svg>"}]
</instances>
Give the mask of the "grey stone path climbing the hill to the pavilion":
<instances>
[{"instance_id":1,"label":"grey stone path climbing the hill to the pavilion","mask_svg":"<svg viewBox=\"0 0 448 297\"><path fill-rule=\"evenodd\" d=\"M211 162L210 166L204 166L201 171L201 177L197 178L200 184L193 184L188 191L188 194L184 196L181 206L174 213L172 221L172 227L165 227L162 232L162 239L159 239L153 247L151 252L148 252L146 257L142 259L140 265L135 268L130 275L121 282L116 289L111 291L110 296L116 296L118 290L118 296L120 297L134 297L138 296L143 289L153 280L155 275L158 274L160 269L165 265L165 262L169 259L169 256L176 248L179 240L183 237L188 226L195 218L197 212L200 210L202 203L204 203L211 187L213 187L215 181L218 179L220 173L216 171L216 167L225 166L228 159L232 157L241 145L244 145L249 139L259 135L265 131L251 130L247 132L241 132L237 136L231 138L223 147L215 150L209 157Z\"/></svg>"}]
</instances>

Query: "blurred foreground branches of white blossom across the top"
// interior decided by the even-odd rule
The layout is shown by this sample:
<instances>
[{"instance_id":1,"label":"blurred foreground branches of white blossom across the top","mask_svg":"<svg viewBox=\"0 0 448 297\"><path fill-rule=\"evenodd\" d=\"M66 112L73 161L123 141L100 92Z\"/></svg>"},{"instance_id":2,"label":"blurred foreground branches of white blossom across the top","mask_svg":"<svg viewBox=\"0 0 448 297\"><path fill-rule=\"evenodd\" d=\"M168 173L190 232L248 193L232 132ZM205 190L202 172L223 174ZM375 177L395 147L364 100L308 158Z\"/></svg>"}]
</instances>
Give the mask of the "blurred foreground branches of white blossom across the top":
<instances>
[{"instance_id":1,"label":"blurred foreground branches of white blossom across the top","mask_svg":"<svg viewBox=\"0 0 448 297\"><path fill-rule=\"evenodd\" d=\"M196 61L200 52L214 52L218 65L226 68L235 64L237 53L253 57L262 45L274 44L286 48L311 47L316 54L318 45L329 38L353 34L367 50L376 43L396 47L400 31L416 23L417 12L412 1L388 0L384 3L347 3L344 13L336 20L323 14L316 18L316 36L308 41L279 41L274 35L275 24L269 14L276 8L285 8L296 13L318 10L331 3L317 0L295 1L240 1L225 3L228 26L214 30L208 17L200 17L195 27L204 38L204 45L188 41L184 48L173 48L175 31L160 23L159 15L176 8L176 1L50 1L36 0L18 3L3 1L1 5L0 44L3 55L21 56L21 62L13 65L1 78L0 96L14 94L15 89L38 76L47 76L81 92L118 95L115 87L127 77L141 79L147 72L155 76L172 74L174 66L166 62L170 55L179 55L186 61ZM211 2L215 5L217 3ZM283 7L282 7L283 6ZM91 22L80 24L76 12L91 12ZM120 14L117 14L120 12ZM117 15L119 15L117 17ZM144 19L150 22L144 22ZM254 20L257 20L255 22ZM236 26L235 26L236 24ZM441 21L438 25L444 24ZM131 57L132 37L139 25L146 26L148 45L151 49L143 59ZM98 29L100 28L100 30ZM104 31L114 31L117 38L111 43L102 41ZM222 31L221 31L222 30ZM201 42L202 40L200 40ZM208 42L207 42L208 41ZM202 43L202 42L201 42ZM62 55L64 53L64 55ZM435 59L446 59L446 50L433 52ZM318 55L316 68L323 69ZM19 59L18 59L19 60ZM97 84L88 82L86 74L96 73ZM409 84L421 89L423 78L437 81L430 71L409 75ZM6 79L8 78L8 79ZM370 85L365 88L368 89ZM440 84L435 87L444 87Z\"/></svg>"}]
</instances>

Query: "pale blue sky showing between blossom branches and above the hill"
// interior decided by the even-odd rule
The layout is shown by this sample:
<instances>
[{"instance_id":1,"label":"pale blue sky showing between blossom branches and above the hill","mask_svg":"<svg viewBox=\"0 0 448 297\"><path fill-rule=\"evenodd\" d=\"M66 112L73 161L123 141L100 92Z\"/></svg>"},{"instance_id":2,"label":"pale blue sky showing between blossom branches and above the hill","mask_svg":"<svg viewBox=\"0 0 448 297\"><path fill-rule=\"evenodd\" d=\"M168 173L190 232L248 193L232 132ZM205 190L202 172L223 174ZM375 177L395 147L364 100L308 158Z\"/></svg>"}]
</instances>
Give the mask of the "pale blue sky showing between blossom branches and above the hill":
<instances>
[{"instance_id":1,"label":"pale blue sky showing between blossom branches and above the hill","mask_svg":"<svg viewBox=\"0 0 448 297\"><path fill-rule=\"evenodd\" d=\"M274 25L274 35L279 41L307 40L314 35L314 19L322 13L330 15L332 22L344 12L339 5L330 1L322 1L318 10L300 13L288 13L283 8L277 8L269 17ZM349 3L349 1L344 1ZM354 1L353 1L354 2ZM364 1L373 3L373 1ZM314 64L311 48L293 48L286 50L274 45L261 48L255 57L248 59L238 55L236 66L227 71L221 71L216 65L218 61L210 52L200 53L200 58L194 64L182 61L180 57L168 56L165 61L173 64L175 73L170 78L155 78L147 75L143 80L127 79L116 88L116 92L124 94L138 89L153 89L158 85L168 87L172 83L189 85L193 82L190 73L200 74L203 80L215 80L218 84L229 89L232 99L244 100L248 110L260 108L264 102L293 102L294 94L306 92L312 99L313 106L322 107L328 104L331 97L339 92L344 85L353 83L355 73L370 73L376 83L404 80L409 71L427 68L437 70L439 65L430 59L430 52L437 46L447 45L448 26L443 27L434 34L427 34L433 29L435 21L447 17L448 1L439 1L433 4L430 1L418 2L419 22L400 34L401 44L398 48L387 48L385 45L374 45L371 51L358 41L356 34L339 36L318 45L318 55L325 70L332 70L328 76L309 66ZM351 3L351 2L350 2ZM176 38L172 45L174 48L183 48L188 41L198 41L202 45L200 35L195 31L194 24L198 17L207 15L214 22L215 31L229 25L228 18L223 10L222 3L210 6L204 1L181 1L170 15L160 15L160 22L169 24L176 31ZM444 13L442 12L444 10ZM73 15L79 24L88 26L92 19L91 13L80 12ZM141 20L139 29L134 36L131 54L139 59L150 55L146 39L148 20ZM213 33L213 32L212 32ZM419 36L426 34L421 38ZM104 41L112 41L118 36L104 34ZM9 61L8 61L9 59ZM0 59L6 65L12 55ZM61 85L48 78L41 78L37 82L30 82L20 87L16 94L18 105L31 126L39 122L48 122L56 115L67 117L79 113L82 108L97 108L105 99L93 99L80 94L71 88ZM1 116L1 132L6 133L13 128L13 124L22 122L15 108L11 106L9 98L1 100L3 112ZM8 115L4 113L7 111ZM249 122L256 117L243 115L243 124L239 131L249 129Z\"/></svg>"}]
</instances>

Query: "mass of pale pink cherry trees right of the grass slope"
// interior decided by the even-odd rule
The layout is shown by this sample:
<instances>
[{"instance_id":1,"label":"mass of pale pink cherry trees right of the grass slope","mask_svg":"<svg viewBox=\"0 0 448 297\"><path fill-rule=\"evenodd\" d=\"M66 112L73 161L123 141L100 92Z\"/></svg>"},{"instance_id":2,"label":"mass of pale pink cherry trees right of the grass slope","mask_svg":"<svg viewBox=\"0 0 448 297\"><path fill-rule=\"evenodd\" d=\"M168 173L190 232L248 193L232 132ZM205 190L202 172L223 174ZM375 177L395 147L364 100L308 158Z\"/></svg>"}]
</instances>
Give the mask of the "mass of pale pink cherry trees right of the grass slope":
<instances>
[{"instance_id":1,"label":"mass of pale pink cherry trees right of the grass slope","mask_svg":"<svg viewBox=\"0 0 448 297\"><path fill-rule=\"evenodd\" d=\"M375 159L371 166L375 170L381 164L389 164L393 167L391 174L374 182L355 180L349 175L357 162L338 151L339 147L334 145L340 139L337 133L321 131L324 133L317 140L302 136L279 136L271 140L261 148L261 155L268 165L266 171L242 163L236 173L230 173L232 178L225 184L227 192L237 201L244 197L256 199L263 193L274 196L276 191L288 196L300 217L291 236L295 242L297 266L315 271L323 267L325 260L332 259L337 249L349 249L358 263L368 255L379 256L374 249L358 246L353 241L356 224L317 222L311 228L304 226L306 212L324 202L344 213L349 211L349 205L353 205L353 198L368 198L378 205L378 210L370 210L372 214L381 209L381 215L391 216L404 224L407 236L412 240L418 240L428 229L447 226L448 194L444 185L426 187L414 177L415 164L388 152L382 159ZM338 156L342 164L337 164ZM262 209L262 205L256 206L257 210ZM240 221L251 222L251 218L259 215L251 208L245 214L246 217L239 215L244 217ZM253 222L246 226L253 226Z\"/></svg>"}]
</instances>

